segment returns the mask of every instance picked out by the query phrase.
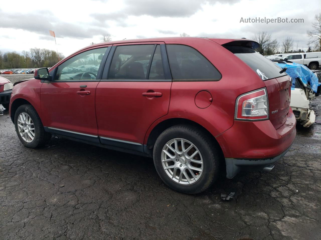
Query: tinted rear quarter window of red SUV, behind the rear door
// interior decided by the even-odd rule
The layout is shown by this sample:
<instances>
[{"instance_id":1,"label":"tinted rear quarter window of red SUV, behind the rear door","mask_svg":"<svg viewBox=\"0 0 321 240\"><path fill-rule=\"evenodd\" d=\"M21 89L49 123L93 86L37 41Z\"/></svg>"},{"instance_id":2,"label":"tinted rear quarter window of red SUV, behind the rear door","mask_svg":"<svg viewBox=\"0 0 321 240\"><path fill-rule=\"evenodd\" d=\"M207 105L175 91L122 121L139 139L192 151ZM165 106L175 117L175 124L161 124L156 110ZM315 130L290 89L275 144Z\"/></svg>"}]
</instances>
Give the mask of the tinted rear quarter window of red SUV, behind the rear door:
<instances>
[{"instance_id":1,"label":"tinted rear quarter window of red SUV, behind the rear door","mask_svg":"<svg viewBox=\"0 0 321 240\"><path fill-rule=\"evenodd\" d=\"M192 47L167 44L169 67L174 80L220 80L221 73L200 52Z\"/></svg>"}]
</instances>

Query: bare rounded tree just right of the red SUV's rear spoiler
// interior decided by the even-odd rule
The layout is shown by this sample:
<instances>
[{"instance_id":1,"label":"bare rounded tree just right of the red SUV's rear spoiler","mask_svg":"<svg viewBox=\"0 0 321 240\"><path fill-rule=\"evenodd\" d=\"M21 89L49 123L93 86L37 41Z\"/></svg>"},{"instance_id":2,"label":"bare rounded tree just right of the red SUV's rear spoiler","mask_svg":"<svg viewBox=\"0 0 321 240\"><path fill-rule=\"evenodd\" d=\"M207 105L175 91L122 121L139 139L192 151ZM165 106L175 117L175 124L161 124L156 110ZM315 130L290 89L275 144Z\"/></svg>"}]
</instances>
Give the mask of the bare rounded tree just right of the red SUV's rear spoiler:
<instances>
[{"instance_id":1,"label":"bare rounded tree just right of the red SUV's rear spoiler","mask_svg":"<svg viewBox=\"0 0 321 240\"><path fill-rule=\"evenodd\" d=\"M252 39L260 44L256 51L261 54L272 55L279 49L278 41L276 39L272 39L271 34L265 31L258 32L252 36Z\"/></svg>"}]
</instances>

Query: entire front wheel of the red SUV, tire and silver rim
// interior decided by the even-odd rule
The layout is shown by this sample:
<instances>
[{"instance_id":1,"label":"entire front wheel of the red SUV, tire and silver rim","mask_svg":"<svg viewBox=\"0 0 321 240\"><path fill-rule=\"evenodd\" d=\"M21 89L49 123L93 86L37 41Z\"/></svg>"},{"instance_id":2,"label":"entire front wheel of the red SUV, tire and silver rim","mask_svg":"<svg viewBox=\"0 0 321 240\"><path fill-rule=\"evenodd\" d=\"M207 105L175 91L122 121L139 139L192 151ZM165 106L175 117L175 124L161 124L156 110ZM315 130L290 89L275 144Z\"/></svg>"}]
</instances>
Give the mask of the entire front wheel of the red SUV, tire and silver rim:
<instances>
[{"instance_id":1,"label":"entire front wheel of the red SUV, tire and silver rim","mask_svg":"<svg viewBox=\"0 0 321 240\"><path fill-rule=\"evenodd\" d=\"M18 138L28 148L41 147L51 138L51 134L45 132L38 113L30 104L24 104L16 110L14 126Z\"/></svg>"}]
</instances>

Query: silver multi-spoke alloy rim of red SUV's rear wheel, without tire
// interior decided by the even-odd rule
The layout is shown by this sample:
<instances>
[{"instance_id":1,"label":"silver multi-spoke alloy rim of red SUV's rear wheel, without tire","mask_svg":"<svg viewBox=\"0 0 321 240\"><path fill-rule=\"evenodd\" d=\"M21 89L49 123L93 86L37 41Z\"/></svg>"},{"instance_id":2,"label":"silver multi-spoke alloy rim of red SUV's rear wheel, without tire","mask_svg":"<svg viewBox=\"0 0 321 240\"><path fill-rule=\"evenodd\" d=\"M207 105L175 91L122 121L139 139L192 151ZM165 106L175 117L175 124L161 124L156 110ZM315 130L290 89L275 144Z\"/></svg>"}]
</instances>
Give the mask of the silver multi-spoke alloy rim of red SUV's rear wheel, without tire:
<instances>
[{"instance_id":1,"label":"silver multi-spoke alloy rim of red SUV's rear wheel, without tire","mask_svg":"<svg viewBox=\"0 0 321 240\"><path fill-rule=\"evenodd\" d=\"M188 185L200 179L203 172L203 158L193 143L186 139L169 140L162 149L162 166L175 182Z\"/></svg>"}]
</instances>

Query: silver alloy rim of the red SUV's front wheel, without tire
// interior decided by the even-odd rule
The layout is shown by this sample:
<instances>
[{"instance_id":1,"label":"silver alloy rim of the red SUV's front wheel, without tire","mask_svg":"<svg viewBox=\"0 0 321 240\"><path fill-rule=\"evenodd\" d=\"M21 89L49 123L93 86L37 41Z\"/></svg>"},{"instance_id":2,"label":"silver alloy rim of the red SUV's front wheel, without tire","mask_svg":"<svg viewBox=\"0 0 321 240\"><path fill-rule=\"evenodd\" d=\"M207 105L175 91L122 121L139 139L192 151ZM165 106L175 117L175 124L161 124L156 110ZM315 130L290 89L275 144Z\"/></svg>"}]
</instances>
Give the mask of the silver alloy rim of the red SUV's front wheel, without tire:
<instances>
[{"instance_id":1,"label":"silver alloy rim of the red SUV's front wheel, without tire","mask_svg":"<svg viewBox=\"0 0 321 240\"><path fill-rule=\"evenodd\" d=\"M35 126L28 113L20 113L17 119L18 131L22 139L26 142L32 142L35 138Z\"/></svg>"}]
</instances>

